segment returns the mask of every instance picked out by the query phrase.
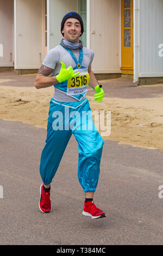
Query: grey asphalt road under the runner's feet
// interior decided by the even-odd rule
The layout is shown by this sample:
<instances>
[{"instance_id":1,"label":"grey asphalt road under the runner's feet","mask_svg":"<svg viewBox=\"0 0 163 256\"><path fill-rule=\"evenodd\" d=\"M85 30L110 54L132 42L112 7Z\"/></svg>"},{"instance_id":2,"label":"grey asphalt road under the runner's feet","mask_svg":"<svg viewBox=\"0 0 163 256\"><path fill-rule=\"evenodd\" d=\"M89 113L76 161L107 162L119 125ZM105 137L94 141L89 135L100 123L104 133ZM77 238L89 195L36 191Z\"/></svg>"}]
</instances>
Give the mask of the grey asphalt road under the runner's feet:
<instances>
[{"instance_id":1,"label":"grey asphalt road under the runner's feet","mask_svg":"<svg viewBox=\"0 0 163 256\"><path fill-rule=\"evenodd\" d=\"M74 137L51 184L53 211L39 210L45 139L46 129L0 120L1 245L162 245L162 151L105 141L94 200L106 218L92 220L82 215Z\"/></svg>"}]
</instances>

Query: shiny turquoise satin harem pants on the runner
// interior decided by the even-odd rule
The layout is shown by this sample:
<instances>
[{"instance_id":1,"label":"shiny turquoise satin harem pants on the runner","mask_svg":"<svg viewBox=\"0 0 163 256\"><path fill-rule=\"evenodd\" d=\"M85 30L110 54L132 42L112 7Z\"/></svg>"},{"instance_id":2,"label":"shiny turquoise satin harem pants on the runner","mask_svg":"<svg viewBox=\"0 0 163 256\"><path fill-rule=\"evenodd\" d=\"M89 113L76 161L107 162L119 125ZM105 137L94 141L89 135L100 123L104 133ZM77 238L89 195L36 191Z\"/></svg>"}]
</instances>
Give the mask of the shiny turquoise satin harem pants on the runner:
<instances>
[{"instance_id":1,"label":"shiny turquoise satin harem pants on the runner","mask_svg":"<svg viewBox=\"0 0 163 256\"><path fill-rule=\"evenodd\" d=\"M79 102L51 99L46 144L40 161L43 184L52 182L72 133L78 142L80 185L84 192L96 191L104 141L93 124L87 99Z\"/></svg>"}]
</instances>

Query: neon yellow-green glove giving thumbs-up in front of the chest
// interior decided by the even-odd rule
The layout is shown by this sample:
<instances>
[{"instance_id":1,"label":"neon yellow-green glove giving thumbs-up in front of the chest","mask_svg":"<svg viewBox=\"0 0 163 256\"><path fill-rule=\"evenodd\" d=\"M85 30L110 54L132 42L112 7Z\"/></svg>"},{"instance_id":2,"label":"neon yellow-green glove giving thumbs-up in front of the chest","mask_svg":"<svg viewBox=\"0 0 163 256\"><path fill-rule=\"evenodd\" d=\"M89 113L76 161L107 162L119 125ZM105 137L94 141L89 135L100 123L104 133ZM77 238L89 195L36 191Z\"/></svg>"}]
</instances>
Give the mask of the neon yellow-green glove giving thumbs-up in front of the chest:
<instances>
[{"instance_id":1,"label":"neon yellow-green glove giving thumbs-up in front of the chest","mask_svg":"<svg viewBox=\"0 0 163 256\"><path fill-rule=\"evenodd\" d=\"M68 68L65 68L65 63L61 62L61 70L59 74L56 76L59 83L64 82L72 77L78 76L80 72L74 73L74 70L72 69L72 66L68 66Z\"/></svg>"}]
</instances>

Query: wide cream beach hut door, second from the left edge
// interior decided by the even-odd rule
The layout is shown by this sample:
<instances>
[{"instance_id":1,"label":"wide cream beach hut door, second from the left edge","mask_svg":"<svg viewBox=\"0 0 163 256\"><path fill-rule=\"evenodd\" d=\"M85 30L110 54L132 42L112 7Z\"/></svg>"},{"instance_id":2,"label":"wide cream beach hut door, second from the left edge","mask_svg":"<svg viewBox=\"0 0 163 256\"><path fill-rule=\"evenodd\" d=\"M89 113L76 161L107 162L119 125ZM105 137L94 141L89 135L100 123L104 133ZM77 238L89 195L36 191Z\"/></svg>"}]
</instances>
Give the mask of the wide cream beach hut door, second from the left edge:
<instances>
[{"instance_id":1,"label":"wide cream beach hut door, second from the left edge","mask_svg":"<svg viewBox=\"0 0 163 256\"><path fill-rule=\"evenodd\" d=\"M43 59L43 1L15 1L15 69L39 69Z\"/></svg>"}]
</instances>

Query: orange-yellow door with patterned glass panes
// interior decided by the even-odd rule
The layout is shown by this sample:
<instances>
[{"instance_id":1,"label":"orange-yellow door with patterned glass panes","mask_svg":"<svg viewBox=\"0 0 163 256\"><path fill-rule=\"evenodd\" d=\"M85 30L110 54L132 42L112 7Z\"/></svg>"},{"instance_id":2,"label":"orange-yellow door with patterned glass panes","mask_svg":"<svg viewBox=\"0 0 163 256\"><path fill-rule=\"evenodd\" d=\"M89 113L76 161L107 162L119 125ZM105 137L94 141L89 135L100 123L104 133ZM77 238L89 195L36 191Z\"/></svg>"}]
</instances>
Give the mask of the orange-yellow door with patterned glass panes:
<instances>
[{"instance_id":1,"label":"orange-yellow door with patterned glass panes","mask_svg":"<svg viewBox=\"0 0 163 256\"><path fill-rule=\"evenodd\" d=\"M121 71L134 74L133 0L121 0Z\"/></svg>"}]
</instances>

